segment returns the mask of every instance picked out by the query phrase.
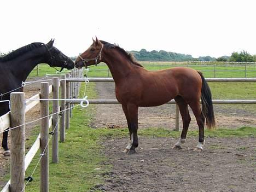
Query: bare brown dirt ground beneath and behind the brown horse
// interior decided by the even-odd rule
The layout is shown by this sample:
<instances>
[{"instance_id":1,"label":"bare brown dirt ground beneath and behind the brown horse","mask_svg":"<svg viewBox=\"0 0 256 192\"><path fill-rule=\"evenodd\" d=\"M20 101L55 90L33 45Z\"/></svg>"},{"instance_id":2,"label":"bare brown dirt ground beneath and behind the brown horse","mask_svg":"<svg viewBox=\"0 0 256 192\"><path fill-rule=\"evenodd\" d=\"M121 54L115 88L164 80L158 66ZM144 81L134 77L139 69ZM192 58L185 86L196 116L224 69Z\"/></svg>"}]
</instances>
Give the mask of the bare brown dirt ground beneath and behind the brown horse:
<instances>
[{"instance_id":1,"label":"bare brown dirt ground beneath and behind the brown horse","mask_svg":"<svg viewBox=\"0 0 256 192\"><path fill-rule=\"evenodd\" d=\"M96 84L98 98L113 99L114 84ZM214 105L218 127L255 126L256 115L246 110ZM174 129L175 106L139 108L139 129L164 127ZM191 129L197 129L191 113ZM92 127L127 127L121 106L102 104L96 107ZM181 150L172 149L177 138L139 137L137 153L122 153L127 138L104 141L106 164L113 170L105 173L102 191L255 191L255 138L206 138L204 151L194 152L197 137L187 138Z\"/></svg>"}]
</instances>

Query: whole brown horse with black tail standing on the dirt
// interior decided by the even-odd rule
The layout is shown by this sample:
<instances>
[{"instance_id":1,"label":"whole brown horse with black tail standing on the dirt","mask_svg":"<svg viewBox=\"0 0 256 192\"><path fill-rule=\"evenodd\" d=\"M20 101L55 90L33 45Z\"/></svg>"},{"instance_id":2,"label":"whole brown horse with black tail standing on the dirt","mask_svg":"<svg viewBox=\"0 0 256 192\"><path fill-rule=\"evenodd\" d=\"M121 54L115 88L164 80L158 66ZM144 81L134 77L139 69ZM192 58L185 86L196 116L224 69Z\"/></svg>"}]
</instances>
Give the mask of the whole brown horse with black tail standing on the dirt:
<instances>
[{"instance_id":1,"label":"whole brown horse with black tail standing on the dirt","mask_svg":"<svg viewBox=\"0 0 256 192\"><path fill-rule=\"evenodd\" d=\"M161 71L148 71L132 55L118 45L96 40L75 61L75 67L82 68L104 62L115 82L115 95L122 104L130 132L130 143L125 153L135 153L138 147L138 107L160 106L174 98L179 106L183 121L181 138L173 148L181 148L185 142L190 115L188 105L193 110L199 126L197 150L202 150L204 124L215 126L211 90L201 72L185 67L175 67ZM200 97L202 110L200 107Z\"/></svg>"}]
</instances>

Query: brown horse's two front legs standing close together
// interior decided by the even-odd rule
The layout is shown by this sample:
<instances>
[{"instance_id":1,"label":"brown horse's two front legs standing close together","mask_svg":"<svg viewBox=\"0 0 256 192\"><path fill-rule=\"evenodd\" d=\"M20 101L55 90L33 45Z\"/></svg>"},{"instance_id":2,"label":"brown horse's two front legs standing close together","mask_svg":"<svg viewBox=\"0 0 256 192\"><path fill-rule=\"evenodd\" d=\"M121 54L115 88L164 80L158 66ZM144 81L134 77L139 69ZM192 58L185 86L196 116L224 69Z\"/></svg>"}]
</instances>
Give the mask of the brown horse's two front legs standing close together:
<instances>
[{"instance_id":1,"label":"brown horse's two front legs standing close together","mask_svg":"<svg viewBox=\"0 0 256 192\"><path fill-rule=\"evenodd\" d=\"M123 110L127 119L127 124L130 132L130 143L125 148L124 153L133 154L136 153L135 148L138 147L138 107L135 104L124 104Z\"/></svg>"}]
</instances>

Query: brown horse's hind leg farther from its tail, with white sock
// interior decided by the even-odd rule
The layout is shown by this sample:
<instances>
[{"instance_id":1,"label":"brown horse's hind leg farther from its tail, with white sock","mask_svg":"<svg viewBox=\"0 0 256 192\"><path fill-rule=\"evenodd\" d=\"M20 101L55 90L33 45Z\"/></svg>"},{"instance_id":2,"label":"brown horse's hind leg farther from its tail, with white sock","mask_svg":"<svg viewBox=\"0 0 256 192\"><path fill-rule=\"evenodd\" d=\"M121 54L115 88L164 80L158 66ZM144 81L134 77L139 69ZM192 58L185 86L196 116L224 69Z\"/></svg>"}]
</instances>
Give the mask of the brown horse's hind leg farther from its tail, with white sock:
<instances>
[{"instance_id":1,"label":"brown horse's hind leg farther from its tail, with white sock","mask_svg":"<svg viewBox=\"0 0 256 192\"><path fill-rule=\"evenodd\" d=\"M185 142L185 139L187 137L188 127L189 127L191 118L189 115L188 103L185 102L181 96L175 97L174 100L179 106L179 112L181 113L181 117L182 117L183 129L181 133L181 138L179 138L179 141L176 144L174 144L172 148L181 149L181 145L182 143Z\"/></svg>"}]
</instances>

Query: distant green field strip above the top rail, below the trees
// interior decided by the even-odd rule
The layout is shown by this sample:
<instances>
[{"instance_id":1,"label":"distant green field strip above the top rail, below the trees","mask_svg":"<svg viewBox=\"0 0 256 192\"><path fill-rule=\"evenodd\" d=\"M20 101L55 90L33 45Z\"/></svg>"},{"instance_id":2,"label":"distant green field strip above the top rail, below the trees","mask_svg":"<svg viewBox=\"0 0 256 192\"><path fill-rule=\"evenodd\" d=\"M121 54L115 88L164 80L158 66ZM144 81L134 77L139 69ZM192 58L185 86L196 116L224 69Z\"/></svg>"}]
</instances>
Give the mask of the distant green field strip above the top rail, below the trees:
<instances>
[{"instance_id":1,"label":"distant green field strip above the top rail, below the trees","mask_svg":"<svg viewBox=\"0 0 256 192\"><path fill-rule=\"evenodd\" d=\"M157 71L177 66L189 67L203 72L205 77L256 77L256 63L219 63L219 62L187 62L187 61L141 61L146 69ZM60 69L57 67L57 69ZM62 73L66 73L64 69ZM39 76L56 74L56 70L47 64L39 65ZM89 77L112 77L106 64L101 63L97 67L90 66ZM37 76L37 67L30 73L30 77Z\"/></svg>"}]
</instances>

